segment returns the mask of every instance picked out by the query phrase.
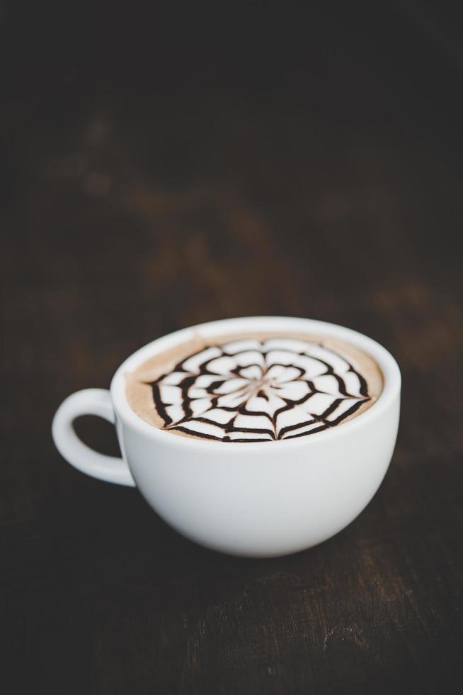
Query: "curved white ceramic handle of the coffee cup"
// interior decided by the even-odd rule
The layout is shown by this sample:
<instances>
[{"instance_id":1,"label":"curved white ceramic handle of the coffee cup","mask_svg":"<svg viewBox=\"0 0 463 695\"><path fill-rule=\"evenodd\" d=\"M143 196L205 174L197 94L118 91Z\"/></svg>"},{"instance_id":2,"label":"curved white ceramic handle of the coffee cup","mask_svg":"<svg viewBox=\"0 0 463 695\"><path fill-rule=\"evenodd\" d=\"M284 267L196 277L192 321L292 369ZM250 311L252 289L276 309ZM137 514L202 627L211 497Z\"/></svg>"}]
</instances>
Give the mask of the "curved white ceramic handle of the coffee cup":
<instances>
[{"instance_id":1,"label":"curved white ceramic handle of the coffee cup","mask_svg":"<svg viewBox=\"0 0 463 695\"><path fill-rule=\"evenodd\" d=\"M80 415L97 415L114 424L110 392L105 389L84 389L69 396L59 406L53 418L52 436L62 457L93 478L135 487L135 480L125 460L99 454L81 442L72 426Z\"/></svg>"}]
</instances>

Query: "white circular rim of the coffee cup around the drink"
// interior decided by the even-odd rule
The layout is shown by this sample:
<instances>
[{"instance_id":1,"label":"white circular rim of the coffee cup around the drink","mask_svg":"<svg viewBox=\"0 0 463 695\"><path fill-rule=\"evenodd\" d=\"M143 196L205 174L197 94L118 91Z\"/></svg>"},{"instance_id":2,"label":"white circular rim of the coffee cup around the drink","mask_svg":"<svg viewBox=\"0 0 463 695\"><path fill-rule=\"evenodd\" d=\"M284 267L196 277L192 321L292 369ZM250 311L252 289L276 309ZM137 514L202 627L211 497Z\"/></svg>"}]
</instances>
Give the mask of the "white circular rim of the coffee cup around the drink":
<instances>
[{"instance_id":1,"label":"white circular rim of the coffee cup around the drink","mask_svg":"<svg viewBox=\"0 0 463 695\"><path fill-rule=\"evenodd\" d=\"M357 418L346 423L339 423L338 426L328 428L322 432L316 432L307 437L298 437L294 439L281 439L272 442L222 442L216 440L204 440L194 437L179 437L173 433L166 432L144 421L135 411L132 410L125 396L125 374L132 372L152 355L168 349L178 343L186 342L193 337L193 333L200 333L205 336L219 335L221 332L236 332L248 330L249 332L271 332L272 330L286 330L292 332L318 333L326 335L327 338L337 338L350 343L354 347L359 347L360 350L367 352L368 355L379 365L383 375L383 389L375 403L365 412L361 413ZM244 316L240 318L224 318L220 321L207 321L206 323L198 323L195 326L181 328L173 333L168 333L161 338L152 340L139 350L132 352L132 355L127 357L124 362L116 370L110 384L110 394L113 401L113 407L116 415L122 420L130 424L132 428L140 434L149 435L159 443L167 444L176 447L206 447L205 451L212 452L214 449L217 452L224 452L225 449L236 452L258 451L262 447L268 447L270 444L280 447L281 449L288 447L309 447L318 444L320 437L328 443L333 438L340 437L353 432L355 429L360 430L362 427L367 427L369 423L380 418L384 411L398 396L401 388L401 374L399 365L392 357L391 353L385 347L368 338L367 335L359 333L345 326L338 326L336 323L328 323L326 321L317 321L311 318L297 318L291 316ZM166 439L167 438L167 439ZM217 448L218 447L218 448Z\"/></svg>"}]
</instances>

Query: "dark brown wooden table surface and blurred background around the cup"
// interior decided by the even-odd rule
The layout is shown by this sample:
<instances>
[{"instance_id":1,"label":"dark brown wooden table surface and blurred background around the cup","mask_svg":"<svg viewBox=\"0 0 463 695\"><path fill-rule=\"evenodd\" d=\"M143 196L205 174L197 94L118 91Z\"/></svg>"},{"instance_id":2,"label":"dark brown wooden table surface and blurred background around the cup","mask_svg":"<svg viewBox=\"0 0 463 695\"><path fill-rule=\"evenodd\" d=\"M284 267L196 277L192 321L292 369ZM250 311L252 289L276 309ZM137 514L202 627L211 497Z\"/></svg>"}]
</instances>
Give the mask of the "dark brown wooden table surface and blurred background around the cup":
<instances>
[{"instance_id":1,"label":"dark brown wooden table surface and blurred background around the cup","mask_svg":"<svg viewBox=\"0 0 463 695\"><path fill-rule=\"evenodd\" d=\"M147 9L148 8L148 9ZM5 692L452 691L462 585L458 5L0 5ZM307 552L189 543L58 455L154 338L282 314L404 377L375 499ZM116 452L112 428L76 423ZM4 675L2 675L2 680Z\"/></svg>"}]
</instances>

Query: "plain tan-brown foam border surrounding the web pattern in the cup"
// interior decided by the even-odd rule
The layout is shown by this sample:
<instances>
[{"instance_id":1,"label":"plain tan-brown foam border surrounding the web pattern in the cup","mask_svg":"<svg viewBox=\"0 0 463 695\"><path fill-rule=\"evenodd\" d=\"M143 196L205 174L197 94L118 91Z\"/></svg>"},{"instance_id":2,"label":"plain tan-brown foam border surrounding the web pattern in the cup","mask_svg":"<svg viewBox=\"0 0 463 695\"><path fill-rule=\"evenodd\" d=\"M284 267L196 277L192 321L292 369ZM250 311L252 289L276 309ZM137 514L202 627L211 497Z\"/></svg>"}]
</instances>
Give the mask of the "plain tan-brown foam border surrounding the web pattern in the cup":
<instances>
[{"instance_id":1,"label":"plain tan-brown foam border surrounding the web pattern in the cup","mask_svg":"<svg viewBox=\"0 0 463 695\"><path fill-rule=\"evenodd\" d=\"M345 420L336 427L343 425L343 423L349 420L358 418L358 416L371 408L382 392L384 378L375 360L373 360L367 352L359 350L358 347L350 345L350 343L336 340L336 338L328 338L326 335L316 335L314 333L287 333L286 331L272 333L227 333L225 335L215 335L207 338L196 333L187 343L169 347L168 350L164 350L163 352L153 355L153 357L149 357L148 360L145 360L134 372L127 372L125 374L125 396L130 408L149 425L161 430L164 429L166 432L171 431L171 433L175 435L204 441L204 438L195 437L193 434L187 435L179 430L167 430L164 428L164 420L158 415L154 406L152 388L144 382L153 382L155 379L158 379L161 374L170 372L178 362L185 360L186 357L193 355L195 352L204 350L206 347L224 345L225 343L232 343L233 340L250 338L256 340L266 340L268 338L306 340L308 343L316 343L317 345L326 347L328 350L333 350L341 357L346 357L348 359L354 369L365 377L370 394L370 401L366 401L362 404L353 415L345 418Z\"/></svg>"}]
</instances>

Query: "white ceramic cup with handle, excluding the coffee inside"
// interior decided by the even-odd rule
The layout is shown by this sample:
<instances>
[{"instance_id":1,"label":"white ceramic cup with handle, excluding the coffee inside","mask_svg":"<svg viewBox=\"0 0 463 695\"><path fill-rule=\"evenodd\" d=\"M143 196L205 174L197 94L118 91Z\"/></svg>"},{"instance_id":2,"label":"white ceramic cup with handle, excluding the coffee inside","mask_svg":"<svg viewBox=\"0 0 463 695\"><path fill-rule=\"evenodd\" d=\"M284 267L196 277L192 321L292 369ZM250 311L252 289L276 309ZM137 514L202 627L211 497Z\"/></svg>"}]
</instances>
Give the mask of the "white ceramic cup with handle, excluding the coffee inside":
<instances>
[{"instance_id":1,"label":"white ceramic cup with handle, excluding the coffee inside","mask_svg":"<svg viewBox=\"0 0 463 695\"><path fill-rule=\"evenodd\" d=\"M193 333L273 331L326 335L367 352L384 377L379 399L335 428L270 443L181 437L149 425L127 403L125 374ZM232 318L178 330L137 350L115 373L110 391L69 396L52 433L74 467L137 486L159 516L196 543L232 555L287 555L338 533L370 502L394 451L400 388L394 357L361 333L305 318ZM77 438L72 422L81 415L115 423L122 458L99 454Z\"/></svg>"}]
</instances>

